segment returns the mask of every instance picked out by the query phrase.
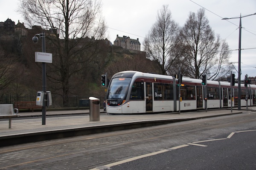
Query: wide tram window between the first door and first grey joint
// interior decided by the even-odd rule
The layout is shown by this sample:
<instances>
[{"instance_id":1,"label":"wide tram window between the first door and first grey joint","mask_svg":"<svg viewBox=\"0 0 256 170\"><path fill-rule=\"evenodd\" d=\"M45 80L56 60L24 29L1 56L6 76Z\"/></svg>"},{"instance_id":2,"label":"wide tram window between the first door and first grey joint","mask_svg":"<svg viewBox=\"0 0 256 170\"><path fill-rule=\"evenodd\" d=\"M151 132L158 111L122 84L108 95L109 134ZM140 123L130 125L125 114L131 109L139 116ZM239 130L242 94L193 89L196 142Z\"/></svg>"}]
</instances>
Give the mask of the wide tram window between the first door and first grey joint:
<instances>
[{"instance_id":1,"label":"wide tram window between the first door and first grey joint","mask_svg":"<svg viewBox=\"0 0 256 170\"><path fill-rule=\"evenodd\" d=\"M173 85L154 83L154 100L173 100Z\"/></svg>"}]
</instances>

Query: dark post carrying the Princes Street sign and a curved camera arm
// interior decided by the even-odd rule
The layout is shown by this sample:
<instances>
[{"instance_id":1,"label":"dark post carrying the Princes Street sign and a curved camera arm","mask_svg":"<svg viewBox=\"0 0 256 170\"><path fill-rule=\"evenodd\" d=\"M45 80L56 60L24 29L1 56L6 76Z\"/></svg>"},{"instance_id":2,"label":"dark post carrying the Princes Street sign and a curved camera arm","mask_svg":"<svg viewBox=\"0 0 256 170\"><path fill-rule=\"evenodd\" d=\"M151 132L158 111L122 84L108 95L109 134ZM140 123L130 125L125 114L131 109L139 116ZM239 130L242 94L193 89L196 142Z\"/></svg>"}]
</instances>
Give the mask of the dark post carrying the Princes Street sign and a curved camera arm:
<instances>
[{"instance_id":1,"label":"dark post carrying the Princes Street sign and a curved camera arm","mask_svg":"<svg viewBox=\"0 0 256 170\"><path fill-rule=\"evenodd\" d=\"M36 34L34 37L32 37L32 40L34 41L34 43L38 42L37 36L39 36L42 39L42 52L45 52L45 32L42 32L41 34ZM42 91L44 92L44 101L42 106L42 125L45 125L47 95L46 95L46 63L44 62L42 62Z\"/></svg>"}]
</instances>

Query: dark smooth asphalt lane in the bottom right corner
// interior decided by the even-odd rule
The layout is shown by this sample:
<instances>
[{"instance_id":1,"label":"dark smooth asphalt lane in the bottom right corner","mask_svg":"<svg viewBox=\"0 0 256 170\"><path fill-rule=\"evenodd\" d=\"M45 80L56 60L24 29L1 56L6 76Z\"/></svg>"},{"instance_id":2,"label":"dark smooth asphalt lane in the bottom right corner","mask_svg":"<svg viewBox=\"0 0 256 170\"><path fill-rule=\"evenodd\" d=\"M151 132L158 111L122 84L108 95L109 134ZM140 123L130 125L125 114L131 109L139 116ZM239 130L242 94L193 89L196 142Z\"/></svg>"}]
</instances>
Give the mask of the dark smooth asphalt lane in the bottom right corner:
<instances>
[{"instance_id":1,"label":"dark smooth asphalt lane in the bottom right corner","mask_svg":"<svg viewBox=\"0 0 256 170\"><path fill-rule=\"evenodd\" d=\"M256 131L235 133L230 139L189 144L179 149L111 167L111 170L255 170ZM223 139L223 140L222 140Z\"/></svg>"}]
</instances>

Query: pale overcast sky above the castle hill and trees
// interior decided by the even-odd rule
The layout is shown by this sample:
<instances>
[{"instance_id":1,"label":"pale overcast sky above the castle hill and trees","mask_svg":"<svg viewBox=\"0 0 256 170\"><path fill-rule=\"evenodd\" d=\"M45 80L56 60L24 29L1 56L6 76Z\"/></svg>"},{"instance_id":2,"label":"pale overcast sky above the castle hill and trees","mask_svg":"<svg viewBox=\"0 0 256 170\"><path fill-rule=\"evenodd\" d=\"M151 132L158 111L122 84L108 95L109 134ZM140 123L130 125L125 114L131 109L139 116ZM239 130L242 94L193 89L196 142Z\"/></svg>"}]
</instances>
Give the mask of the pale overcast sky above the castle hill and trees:
<instances>
[{"instance_id":1,"label":"pale overcast sky above the castle hill and trees","mask_svg":"<svg viewBox=\"0 0 256 170\"><path fill-rule=\"evenodd\" d=\"M15 11L19 0L0 0L0 22L8 18L21 23L25 20ZM239 17L256 13L256 0L102 0L102 13L108 24L107 38L112 43L116 35L139 38L143 45L145 35L156 22L157 11L169 5L174 19L180 26L186 22L189 12L206 9L206 16L215 34L226 39L233 49L230 61L238 70L239 19L221 20L224 17ZM256 15L241 20L241 79L248 74L256 77ZM143 49L141 49L143 50ZM236 70L236 78L238 74Z\"/></svg>"}]
</instances>

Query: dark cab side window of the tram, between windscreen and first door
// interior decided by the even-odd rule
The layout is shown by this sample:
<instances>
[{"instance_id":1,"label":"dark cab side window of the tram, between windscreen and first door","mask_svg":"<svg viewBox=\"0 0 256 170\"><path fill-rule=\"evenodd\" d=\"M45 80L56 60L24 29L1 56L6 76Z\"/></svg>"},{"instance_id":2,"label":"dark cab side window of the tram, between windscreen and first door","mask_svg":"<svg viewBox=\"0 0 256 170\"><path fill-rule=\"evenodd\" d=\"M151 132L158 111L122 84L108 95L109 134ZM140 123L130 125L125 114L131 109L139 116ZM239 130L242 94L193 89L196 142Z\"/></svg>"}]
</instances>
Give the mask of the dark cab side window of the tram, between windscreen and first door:
<instances>
[{"instance_id":1,"label":"dark cab side window of the tram, between windscreen and first door","mask_svg":"<svg viewBox=\"0 0 256 170\"><path fill-rule=\"evenodd\" d=\"M131 88L131 100L144 100L144 83L134 82Z\"/></svg>"}]
</instances>

